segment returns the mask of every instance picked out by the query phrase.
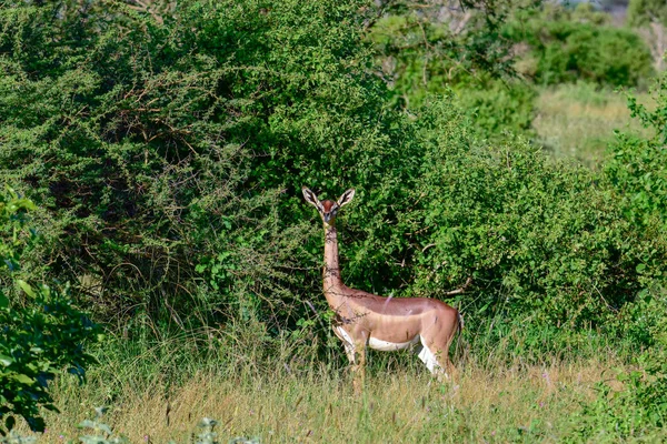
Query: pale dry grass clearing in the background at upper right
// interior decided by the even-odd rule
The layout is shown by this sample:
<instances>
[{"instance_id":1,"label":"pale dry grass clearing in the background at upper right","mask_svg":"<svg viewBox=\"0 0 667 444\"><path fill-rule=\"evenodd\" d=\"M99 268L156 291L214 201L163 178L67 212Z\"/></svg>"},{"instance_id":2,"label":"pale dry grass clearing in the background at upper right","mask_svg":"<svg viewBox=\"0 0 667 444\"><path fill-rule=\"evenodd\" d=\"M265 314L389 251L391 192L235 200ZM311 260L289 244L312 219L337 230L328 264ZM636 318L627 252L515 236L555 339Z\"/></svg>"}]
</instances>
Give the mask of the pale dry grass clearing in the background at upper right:
<instances>
[{"instance_id":1,"label":"pale dry grass clearing in the background at upper right","mask_svg":"<svg viewBox=\"0 0 667 444\"><path fill-rule=\"evenodd\" d=\"M649 97L640 94L647 103ZM537 142L557 158L573 158L597 168L614 141L614 130L646 132L630 119L625 95L588 84L544 90L532 122Z\"/></svg>"}]
</instances>

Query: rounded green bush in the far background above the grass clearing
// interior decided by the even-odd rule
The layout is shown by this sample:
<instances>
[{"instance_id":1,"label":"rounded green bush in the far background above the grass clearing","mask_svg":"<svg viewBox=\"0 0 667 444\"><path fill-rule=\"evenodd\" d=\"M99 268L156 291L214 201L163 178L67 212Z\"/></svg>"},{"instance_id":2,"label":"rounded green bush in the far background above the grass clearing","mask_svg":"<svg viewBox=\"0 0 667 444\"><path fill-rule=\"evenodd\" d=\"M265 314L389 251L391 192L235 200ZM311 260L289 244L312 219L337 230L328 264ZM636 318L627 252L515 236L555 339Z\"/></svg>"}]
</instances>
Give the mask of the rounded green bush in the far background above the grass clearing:
<instances>
[{"instance_id":1,"label":"rounded green bush in the far background above the grass clearing","mask_svg":"<svg viewBox=\"0 0 667 444\"><path fill-rule=\"evenodd\" d=\"M585 8L583 10L581 8ZM587 80L610 87L641 84L653 74L651 54L634 31L601 24L580 3L570 12L558 6L517 13L505 38L526 44L520 70L539 84Z\"/></svg>"}]
</instances>

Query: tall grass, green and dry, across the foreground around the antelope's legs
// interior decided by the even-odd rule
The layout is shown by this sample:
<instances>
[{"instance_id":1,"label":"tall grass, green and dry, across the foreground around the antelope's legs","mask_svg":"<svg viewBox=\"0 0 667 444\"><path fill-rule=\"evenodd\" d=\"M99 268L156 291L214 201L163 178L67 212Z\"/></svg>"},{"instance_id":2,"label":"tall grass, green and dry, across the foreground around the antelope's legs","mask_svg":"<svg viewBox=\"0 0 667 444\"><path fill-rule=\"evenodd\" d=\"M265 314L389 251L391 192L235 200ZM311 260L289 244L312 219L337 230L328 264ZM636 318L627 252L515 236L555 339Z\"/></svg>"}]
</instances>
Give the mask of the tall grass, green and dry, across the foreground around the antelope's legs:
<instances>
[{"instance_id":1,"label":"tall grass, green and dry, across the foreground around the antelope's legs","mask_svg":"<svg viewBox=\"0 0 667 444\"><path fill-rule=\"evenodd\" d=\"M486 325L467 331L454 353L455 381L438 383L414 354L370 352L366 390L355 396L342 350L325 345L326 332L262 342L251 339L261 337L256 329L106 344L88 384L57 381L62 413L48 414L39 442L79 436L77 424L100 405L111 407L106 422L136 443L187 442L205 416L219 422L225 443L558 442L595 397L595 383L627 365L599 339L528 356L528 332L491 335L498 326Z\"/></svg>"}]
</instances>

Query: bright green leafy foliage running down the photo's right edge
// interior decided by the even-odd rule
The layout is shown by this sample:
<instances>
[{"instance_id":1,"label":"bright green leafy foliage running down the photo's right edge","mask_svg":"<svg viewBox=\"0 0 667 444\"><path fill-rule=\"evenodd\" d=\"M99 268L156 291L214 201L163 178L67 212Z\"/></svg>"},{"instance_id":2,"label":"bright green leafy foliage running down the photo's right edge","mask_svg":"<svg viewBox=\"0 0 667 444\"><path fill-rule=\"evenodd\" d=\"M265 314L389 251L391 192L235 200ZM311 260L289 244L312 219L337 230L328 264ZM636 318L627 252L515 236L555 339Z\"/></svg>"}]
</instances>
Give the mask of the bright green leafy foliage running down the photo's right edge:
<instances>
[{"instance_id":1,"label":"bright green leafy foliage running down the photo's right edge","mask_svg":"<svg viewBox=\"0 0 667 444\"><path fill-rule=\"evenodd\" d=\"M656 82L654 99L657 108L648 111L636 98L628 95L634 117L653 129L653 137L618 133L610 145L614 158L605 174L616 193L615 200L625 218L635 226L645 245L635 255L640 259L636 271L646 289L634 304L628 304L616 320L617 331L626 341L641 345L645 352L637 359L643 370L619 372L624 384L619 392L598 384L595 402L584 405L577 417L575 436L596 442L618 440L664 440L667 418L667 366L665 320L667 299L663 258L655 256L666 239L665 208L665 77ZM646 242L646 240L650 240Z\"/></svg>"}]
</instances>

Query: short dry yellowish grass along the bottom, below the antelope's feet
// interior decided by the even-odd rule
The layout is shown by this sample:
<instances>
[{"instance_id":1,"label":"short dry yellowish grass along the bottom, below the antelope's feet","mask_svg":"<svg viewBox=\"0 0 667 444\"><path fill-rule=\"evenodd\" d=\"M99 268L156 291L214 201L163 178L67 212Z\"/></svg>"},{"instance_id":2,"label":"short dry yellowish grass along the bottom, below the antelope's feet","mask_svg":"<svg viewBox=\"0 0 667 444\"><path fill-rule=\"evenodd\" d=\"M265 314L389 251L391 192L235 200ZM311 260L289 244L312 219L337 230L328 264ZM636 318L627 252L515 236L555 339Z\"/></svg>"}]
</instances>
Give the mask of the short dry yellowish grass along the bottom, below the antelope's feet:
<instances>
[{"instance_id":1,"label":"short dry yellowish grass along the bottom, below the antelope's feet","mask_svg":"<svg viewBox=\"0 0 667 444\"><path fill-rule=\"evenodd\" d=\"M456 384L437 383L420 367L389 365L369 375L360 397L345 373L323 369L302 376L198 373L169 390L169 400L159 380L121 387L106 422L133 443L186 442L205 416L219 421L223 443L237 436L262 443L558 442L580 402L593 397L594 383L609 379L605 372L615 365L609 359L491 371L470 365ZM48 417L39 442L78 436L76 424L106 396L101 387L59 387L62 414Z\"/></svg>"}]
</instances>

